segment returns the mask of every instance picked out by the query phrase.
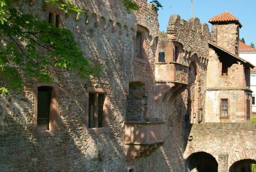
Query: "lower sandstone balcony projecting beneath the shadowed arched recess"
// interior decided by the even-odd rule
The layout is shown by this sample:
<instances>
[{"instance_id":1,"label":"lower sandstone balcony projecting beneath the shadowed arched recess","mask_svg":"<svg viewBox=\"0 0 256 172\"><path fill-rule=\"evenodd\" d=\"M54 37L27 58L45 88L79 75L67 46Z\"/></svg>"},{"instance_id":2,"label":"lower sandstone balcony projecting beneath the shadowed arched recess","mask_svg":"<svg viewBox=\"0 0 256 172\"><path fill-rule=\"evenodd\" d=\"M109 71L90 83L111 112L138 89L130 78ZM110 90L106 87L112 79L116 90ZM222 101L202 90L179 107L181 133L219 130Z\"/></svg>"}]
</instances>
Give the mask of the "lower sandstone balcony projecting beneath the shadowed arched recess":
<instances>
[{"instance_id":1,"label":"lower sandstone balcony projecting beneath the shadowed arched recess","mask_svg":"<svg viewBox=\"0 0 256 172\"><path fill-rule=\"evenodd\" d=\"M125 122L127 161L150 155L164 142L165 121Z\"/></svg>"}]
</instances>

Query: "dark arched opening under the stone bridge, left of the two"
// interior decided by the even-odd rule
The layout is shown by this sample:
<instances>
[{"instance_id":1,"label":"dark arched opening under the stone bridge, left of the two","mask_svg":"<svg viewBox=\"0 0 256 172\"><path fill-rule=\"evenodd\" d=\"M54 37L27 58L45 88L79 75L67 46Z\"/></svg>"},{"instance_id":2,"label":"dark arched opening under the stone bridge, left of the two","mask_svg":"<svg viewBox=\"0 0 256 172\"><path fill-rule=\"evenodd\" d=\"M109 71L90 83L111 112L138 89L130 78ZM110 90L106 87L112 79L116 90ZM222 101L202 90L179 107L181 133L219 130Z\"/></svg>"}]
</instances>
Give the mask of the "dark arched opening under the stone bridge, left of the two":
<instances>
[{"instance_id":1,"label":"dark arched opening under the stone bridge, left of the two","mask_svg":"<svg viewBox=\"0 0 256 172\"><path fill-rule=\"evenodd\" d=\"M217 172L218 162L211 154L195 152L187 158L186 167L191 172Z\"/></svg>"}]
</instances>

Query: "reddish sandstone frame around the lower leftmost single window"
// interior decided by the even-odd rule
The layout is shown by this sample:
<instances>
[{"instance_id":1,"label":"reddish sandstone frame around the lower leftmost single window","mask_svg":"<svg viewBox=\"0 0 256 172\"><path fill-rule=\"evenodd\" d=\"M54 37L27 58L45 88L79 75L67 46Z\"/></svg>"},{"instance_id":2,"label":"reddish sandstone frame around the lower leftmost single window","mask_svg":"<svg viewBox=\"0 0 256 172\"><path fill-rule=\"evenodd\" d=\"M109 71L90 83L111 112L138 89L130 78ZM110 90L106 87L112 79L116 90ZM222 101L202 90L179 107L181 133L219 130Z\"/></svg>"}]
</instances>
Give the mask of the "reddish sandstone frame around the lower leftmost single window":
<instances>
[{"instance_id":1,"label":"reddish sandstone frame around the lower leftmost single window","mask_svg":"<svg viewBox=\"0 0 256 172\"><path fill-rule=\"evenodd\" d=\"M38 87L47 86L51 87L51 100L50 100L50 114L49 114L49 130L41 130L37 124L37 113L38 113ZM36 130L36 136L55 136L57 132L57 120L59 118L59 86L53 84L36 83L33 86L34 93L34 127Z\"/></svg>"}]
</instances>

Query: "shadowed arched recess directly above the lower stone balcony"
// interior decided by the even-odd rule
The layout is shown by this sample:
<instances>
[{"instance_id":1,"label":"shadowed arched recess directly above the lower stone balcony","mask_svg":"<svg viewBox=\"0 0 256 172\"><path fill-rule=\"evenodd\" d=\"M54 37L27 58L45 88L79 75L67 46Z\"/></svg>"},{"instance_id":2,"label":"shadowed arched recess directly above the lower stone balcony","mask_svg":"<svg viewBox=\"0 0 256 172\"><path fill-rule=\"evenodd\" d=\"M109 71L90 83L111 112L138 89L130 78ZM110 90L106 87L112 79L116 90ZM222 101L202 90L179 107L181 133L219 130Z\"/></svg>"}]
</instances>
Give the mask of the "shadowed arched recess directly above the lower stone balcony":
<instances>
[{"instance_id":1,"label":"shadowed arched recess directly above the lower stone balcony","mask_svg":"<svg viewBox=\"0 0 256 172\"><path fill-rule=\"evenodd\" d=\"M147 93L143 82L129 83L126 102L126 121L144 121L147 116Z\"/></svg>"}]
</instances>

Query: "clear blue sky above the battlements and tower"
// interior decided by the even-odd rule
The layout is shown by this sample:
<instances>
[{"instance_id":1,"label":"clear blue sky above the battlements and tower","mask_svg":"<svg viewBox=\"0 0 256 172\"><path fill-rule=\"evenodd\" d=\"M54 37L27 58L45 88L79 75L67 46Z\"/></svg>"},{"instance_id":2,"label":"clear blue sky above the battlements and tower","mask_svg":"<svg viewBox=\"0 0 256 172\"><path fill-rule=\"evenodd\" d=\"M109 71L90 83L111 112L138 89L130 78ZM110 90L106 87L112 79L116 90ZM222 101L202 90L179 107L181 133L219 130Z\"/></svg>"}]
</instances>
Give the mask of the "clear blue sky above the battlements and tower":
<instances>
[{"instance_id":1,"label":"clear blue sky above the battlements and tower","mask_svg":"<svg viewBox=\"0 0 256 172\"><path fill-rule=\"evenodd\" d=\"M166 32L169 17L178 14L181 18L188 20L191 17L191 0L159 0L163 5L163 10L159 10L160 30ZM193 0L193 17L200 19L201 23L221 12L229 11L236 16L243 27L240 29L240 39L245 39L245 43L256 45L256 0Z\"/></svg>"}]
</instances>

